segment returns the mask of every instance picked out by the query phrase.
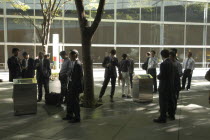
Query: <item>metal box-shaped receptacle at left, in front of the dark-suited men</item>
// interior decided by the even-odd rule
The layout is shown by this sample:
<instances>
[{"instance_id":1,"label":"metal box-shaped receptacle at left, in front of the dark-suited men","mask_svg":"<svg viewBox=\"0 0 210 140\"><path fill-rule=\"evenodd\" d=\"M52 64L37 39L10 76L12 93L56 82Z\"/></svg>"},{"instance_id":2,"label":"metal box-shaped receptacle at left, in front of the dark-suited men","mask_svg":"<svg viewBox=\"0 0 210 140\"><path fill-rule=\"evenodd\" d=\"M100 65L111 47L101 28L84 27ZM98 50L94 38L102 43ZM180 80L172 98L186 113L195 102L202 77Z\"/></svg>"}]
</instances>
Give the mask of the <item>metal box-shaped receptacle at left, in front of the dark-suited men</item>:
<instances>
[{"instance_id":1,"label":"metal box-shaped receptacle at left, in front of the dark-suited men","mask_svg":"<svg viewBox=\"0 0 210 140\"><path fill-rule=\"evenodd\" d=\"M14 115L36 114L37 82L32 78L13 80Z\"/></svg>"}]
</instances>

